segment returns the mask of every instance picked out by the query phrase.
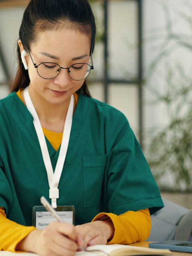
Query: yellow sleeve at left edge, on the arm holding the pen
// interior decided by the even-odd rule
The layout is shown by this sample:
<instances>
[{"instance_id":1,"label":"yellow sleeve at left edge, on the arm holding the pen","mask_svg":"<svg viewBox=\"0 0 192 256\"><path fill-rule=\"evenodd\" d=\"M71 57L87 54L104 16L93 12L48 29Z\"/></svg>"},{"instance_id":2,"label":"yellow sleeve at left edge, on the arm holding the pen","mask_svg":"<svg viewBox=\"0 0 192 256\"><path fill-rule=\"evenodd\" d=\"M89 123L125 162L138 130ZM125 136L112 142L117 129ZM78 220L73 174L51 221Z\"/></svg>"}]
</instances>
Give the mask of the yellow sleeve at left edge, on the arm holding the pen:
<instances>
[{"instance_id":1,"label":"yellow sleeve at left edge, on the arm holding the pen","mask_svg":"<svg viewBox=\"0 0 192 256\"><path fill-rule=\"evenodd\" d=\"M17 244L35 229L7 219L4 209L0 207L0 251L16 252Z\"/></svg>"}]
</instances>

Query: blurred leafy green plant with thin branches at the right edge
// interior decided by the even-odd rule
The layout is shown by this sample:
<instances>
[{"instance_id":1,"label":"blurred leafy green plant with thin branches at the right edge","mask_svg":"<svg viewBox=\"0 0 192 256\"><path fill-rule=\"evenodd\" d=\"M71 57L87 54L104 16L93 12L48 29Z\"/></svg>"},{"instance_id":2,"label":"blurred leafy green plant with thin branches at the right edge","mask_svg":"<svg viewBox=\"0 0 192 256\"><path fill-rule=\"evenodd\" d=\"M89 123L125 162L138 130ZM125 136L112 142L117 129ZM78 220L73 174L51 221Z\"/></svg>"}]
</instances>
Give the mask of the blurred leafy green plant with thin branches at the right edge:
<instances>
[{"instance_id":1,"label":"blurred leafy green plant with thin branches at the right edge","mask_svg":"<svg viewBox=\"0 0 192 256\"><path fill-rule=\"evenodd\" d=\"M183 4L190 7L189 0ZM176 20L172 20L167 1L162 1L166 18L166 33L152 35L149 41L160 41L159 52L146 72L146 87L153 94L153 104L166 107L168 122L164 127L150 131L150 143L146 143L149 165L160 189L171 191L192 191L192 76L184 69L184 59L174 59L177 51L192 54L192 13L188 14L174 6L177 19L182 19L190 27L191 34L174 31ZM162 37L164 37L162 39ZM164 66L163 71L160 66ZM151 78L158 73L164 77L160 83L162 90L154 89ZM162 72L162 73L161 73ZM166 183L167 177L170 177ZM171 181L171 184L170 184Z\"/></svg>"}]
</instances>

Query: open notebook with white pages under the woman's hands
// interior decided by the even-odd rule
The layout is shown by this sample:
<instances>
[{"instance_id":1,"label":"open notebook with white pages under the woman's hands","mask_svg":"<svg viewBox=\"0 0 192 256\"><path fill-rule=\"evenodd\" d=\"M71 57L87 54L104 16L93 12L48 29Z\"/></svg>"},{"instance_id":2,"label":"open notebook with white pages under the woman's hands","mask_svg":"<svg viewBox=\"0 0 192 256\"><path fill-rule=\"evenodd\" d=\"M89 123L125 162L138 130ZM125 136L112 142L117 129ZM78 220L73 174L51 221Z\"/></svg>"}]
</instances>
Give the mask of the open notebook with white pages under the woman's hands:
<instances>
[{"instance_id":1,"label":"open notebook with white pages under the woman's hands","mask_svg":"<svg viewBox=\"0 0 192 256\"><path fill-rule=\"evenodd\" d=\"M0 252L0 256L35 256L37 254L33 254L30 252ZM88 246L86 251L76 252L75 256L131 256L131 255L163 255L168 256L172 253L167 249L152 249L152 248L143 248L136 246L127 246L120 244L98 244L94 246Z\"/></svg>"}]
</instances>

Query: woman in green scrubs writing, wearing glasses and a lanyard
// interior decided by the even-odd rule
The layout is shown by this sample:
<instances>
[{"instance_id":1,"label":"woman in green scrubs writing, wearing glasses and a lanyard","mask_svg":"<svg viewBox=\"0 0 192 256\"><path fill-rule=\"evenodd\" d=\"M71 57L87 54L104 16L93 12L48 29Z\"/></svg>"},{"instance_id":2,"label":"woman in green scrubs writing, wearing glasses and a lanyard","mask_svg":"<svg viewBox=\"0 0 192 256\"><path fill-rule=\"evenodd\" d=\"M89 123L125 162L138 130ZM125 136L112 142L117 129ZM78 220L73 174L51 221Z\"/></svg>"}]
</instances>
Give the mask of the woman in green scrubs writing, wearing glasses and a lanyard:
<instances>
[{"instance_id":1,"label":"woman in green scrubs writing, wearing glasses and a lanyard","mask_svg":"<svg viewBox=\"0 0 192 256\"><path fill-rule=\"evenodd\" d=\"M18 71L0 100L0 250L73 256L142 241L163 207L125 116L88 91L95 33L87 0L31 0L24 12ZM75 225L35 228L42 195L74 205Z\"/></svg>"}]
</instances>

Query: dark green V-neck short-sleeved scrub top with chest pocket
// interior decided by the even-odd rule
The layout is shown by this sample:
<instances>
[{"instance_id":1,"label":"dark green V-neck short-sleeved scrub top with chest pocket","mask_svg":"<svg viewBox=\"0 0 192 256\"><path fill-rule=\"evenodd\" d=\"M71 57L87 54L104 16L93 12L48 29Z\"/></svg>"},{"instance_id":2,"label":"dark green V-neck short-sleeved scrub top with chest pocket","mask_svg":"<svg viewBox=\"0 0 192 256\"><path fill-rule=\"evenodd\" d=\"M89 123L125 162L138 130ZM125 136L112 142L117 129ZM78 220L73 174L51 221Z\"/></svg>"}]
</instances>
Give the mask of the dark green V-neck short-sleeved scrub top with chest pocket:
<instances>
[{"instance_id":1,"label":"dark green V-neck short-sleeved scrub top with chest pocket","mask_svg":"<svg viewBox=\"0 0 192 256\"><path fill-rule=\"evenodd\" d=\"M53 169L59 150L46 140ZM57 205L74 205L76 224L100 212L117 215L163 207L160 192L126 117L79 95ZM16 93L0 100L0 206L8 219L32 225L32 207L49 199L49 185L33 118Z\"/></svg>"}]
</instances>

